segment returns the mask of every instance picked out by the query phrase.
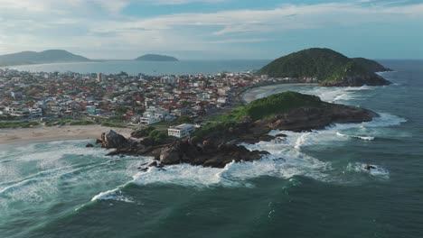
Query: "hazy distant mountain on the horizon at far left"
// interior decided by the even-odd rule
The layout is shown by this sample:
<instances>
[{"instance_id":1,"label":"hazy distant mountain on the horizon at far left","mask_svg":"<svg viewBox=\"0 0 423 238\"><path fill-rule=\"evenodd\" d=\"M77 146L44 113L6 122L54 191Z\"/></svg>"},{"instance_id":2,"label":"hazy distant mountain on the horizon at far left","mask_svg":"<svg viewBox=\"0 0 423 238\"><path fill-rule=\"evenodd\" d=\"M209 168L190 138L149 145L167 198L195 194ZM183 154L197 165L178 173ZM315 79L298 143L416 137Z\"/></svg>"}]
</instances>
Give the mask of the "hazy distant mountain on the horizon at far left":
<instances>
[{"instance_id":1,"label":"hazy distant mountain on the horizon at far left","mask_svg":"<svg viewBox=\"0 0 423 238\"><path fill-rule=\"evenodd\" d=\"M0 55L1 66L42 64L59 62L85 62L85 57L72 54L66 50L44 50L41 52L23 51L14 54Z\"/></svg>"}]
</instances>

